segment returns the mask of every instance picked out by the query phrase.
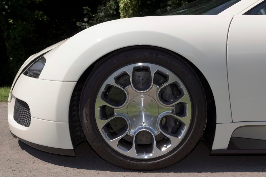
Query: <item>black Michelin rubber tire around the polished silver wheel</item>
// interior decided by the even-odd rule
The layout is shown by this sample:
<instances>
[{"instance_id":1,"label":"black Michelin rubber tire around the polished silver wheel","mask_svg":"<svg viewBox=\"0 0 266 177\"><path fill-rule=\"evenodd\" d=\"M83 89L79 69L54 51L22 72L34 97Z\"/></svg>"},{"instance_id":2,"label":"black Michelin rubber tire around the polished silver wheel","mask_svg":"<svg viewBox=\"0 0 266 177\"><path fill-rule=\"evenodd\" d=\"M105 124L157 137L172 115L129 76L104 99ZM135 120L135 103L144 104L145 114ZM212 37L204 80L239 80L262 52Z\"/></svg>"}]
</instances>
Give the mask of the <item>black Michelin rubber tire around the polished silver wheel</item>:
<instances>
[{"instance_id":1,"label":"black Michelin rubber tire around the polished silver wheel","mask_svg":"<svg viewBox=\"0 0 266 177\"><path fill-rule=\"evenodd\" d=\"M100 133L95 119L95 100L97 99L98 93L100 93L99 89L103 83L112 73L118 71L118 69L135 63L150 63L158 67L166 68L174 73L181 80L183 87L187 89L191 102L190 123L183 124L181 122L181 125L188 127L185 134L182 135L182 140L167 153L158 153L156 157L149 157L147 159L127 156L126 152L123 154L115 150ZM99 60L84 84L80 110L81 125L91 147L109 163L129 170L157 170L166 168L182 160L192 151L200 139L207 117L204 90L193 69L175 53L151 46L134 46L120 49ZM170 118L167 121L170 121ZM161 119L160 126L162 124Z\"/></svg>"}]
</instances>

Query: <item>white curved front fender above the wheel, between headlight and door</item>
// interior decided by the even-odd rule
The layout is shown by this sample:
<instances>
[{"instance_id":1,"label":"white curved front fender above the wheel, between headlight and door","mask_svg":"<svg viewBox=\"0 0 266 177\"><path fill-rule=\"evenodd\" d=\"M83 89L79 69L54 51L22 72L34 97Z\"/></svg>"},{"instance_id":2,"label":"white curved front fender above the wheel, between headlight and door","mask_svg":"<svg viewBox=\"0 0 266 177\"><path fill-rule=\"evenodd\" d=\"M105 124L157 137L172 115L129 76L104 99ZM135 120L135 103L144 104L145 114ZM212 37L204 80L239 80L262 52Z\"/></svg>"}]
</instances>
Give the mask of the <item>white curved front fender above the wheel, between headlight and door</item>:
<instances>
[{"instance_id":1,"label":"white curved front fender above the wheel, between headlight and door","mask_svg":"<svg viewBox=\"0 0 266 177\"><path fill-rule=\"evenodd\" d=\"M192 62L207 79L217 123L232 122L227 82L227 32L232 16L185 15L114 20L76 34L45 54L39 79L77 81L102 56L127 46L151 45Z\"/></svg>"}]
</instances>

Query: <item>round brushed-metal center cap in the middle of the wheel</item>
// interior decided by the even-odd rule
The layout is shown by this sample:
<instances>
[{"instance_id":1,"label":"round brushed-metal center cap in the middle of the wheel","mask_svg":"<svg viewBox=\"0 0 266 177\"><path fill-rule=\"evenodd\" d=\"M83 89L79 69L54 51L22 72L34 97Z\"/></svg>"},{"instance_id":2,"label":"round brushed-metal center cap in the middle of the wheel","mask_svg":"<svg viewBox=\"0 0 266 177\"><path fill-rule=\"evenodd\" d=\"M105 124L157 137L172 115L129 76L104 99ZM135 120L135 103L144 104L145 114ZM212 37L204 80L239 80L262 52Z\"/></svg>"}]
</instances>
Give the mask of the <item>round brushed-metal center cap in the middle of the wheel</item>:
<instances>
[{"instance_id":1,"label":"round brushed-metal center cap in the middle of the wheel","mask_svg":"<svg viewBox=\"0 0 266 177\"><path fill-rule=\"evenodd\" d=\"M127 114L137 125L149 125L158 116L158 104L148 95L138 95L132 98L127 106Z\"/></svg>"}]
</instances>

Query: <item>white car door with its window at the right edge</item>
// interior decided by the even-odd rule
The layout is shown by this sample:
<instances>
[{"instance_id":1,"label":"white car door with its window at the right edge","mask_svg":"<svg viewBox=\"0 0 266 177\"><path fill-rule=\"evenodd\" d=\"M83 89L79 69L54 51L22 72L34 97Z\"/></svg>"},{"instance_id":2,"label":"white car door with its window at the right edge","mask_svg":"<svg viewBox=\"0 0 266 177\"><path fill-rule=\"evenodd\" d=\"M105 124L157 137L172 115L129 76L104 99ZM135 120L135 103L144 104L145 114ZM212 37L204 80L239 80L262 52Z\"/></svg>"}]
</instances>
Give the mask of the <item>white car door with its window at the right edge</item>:
<instances>
[{"instance_id":1,"label":"white car door with its window at the right edge","mask_svg":"<svg viewBox=\"0 0 266 177\"><path fill-rule=\"evenodd\" d=\"M227 70L233 122L266 121L266 1L233 17Z\"/></svg>"}]
</instances>

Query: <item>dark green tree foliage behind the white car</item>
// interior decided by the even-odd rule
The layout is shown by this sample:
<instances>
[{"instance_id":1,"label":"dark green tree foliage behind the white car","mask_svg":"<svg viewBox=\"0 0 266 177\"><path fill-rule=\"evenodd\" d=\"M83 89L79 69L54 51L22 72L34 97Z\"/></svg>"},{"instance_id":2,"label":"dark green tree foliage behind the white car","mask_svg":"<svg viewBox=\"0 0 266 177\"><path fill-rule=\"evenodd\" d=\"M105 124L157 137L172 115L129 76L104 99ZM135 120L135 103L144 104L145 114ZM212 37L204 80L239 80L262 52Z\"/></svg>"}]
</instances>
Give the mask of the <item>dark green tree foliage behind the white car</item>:
<instances>
[{"instance_id":1,"label":"dark green tree foliage behind the white car","mask_svg":"<svg viewBox=\"0 0 266 177\"><path fill-rule=\"evenodd\" d=\"M161 15L195 0L0 0L0 87L24 61L90 26L119 18Z\"/></svg>"}]
</instances>

